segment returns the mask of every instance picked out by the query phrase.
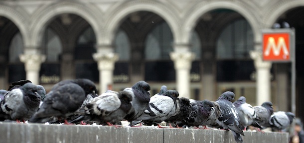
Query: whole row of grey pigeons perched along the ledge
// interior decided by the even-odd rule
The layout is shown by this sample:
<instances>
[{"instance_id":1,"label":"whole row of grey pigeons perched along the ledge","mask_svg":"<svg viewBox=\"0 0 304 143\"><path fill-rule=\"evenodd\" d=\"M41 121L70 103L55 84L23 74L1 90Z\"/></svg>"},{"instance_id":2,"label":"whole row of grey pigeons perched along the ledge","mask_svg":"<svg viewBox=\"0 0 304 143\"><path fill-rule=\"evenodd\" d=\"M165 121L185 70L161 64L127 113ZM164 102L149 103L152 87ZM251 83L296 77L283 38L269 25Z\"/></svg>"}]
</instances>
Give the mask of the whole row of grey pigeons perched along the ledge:
<instances>
[{"instance_id":1,"label":"whole row of grey pigeons perched along the ledge","mask_svg":"<svg viewBox=\"0 0 304 143\"><path fill-rule=\"evenodd\" d=\"M176 90L161 86L160 92L150 97L149 83L139 81L122 91L108 90L98 94L89 79L63 80L46 94L41 85L29 80L13 82L9 89L0 90L0 121L28 120L29 123L86 124L115 126L120 121L158 125L162 121L173 128L221 128L230 130L237 143L242 143L243 130L248 126L258 129L284 130L295 118L291 112L274 112L273 104L251 106L241 96L226 91L216 101L196 101L178 97ZM172 125L171 125L172 124Z\"/></svg>"}]
</instances>

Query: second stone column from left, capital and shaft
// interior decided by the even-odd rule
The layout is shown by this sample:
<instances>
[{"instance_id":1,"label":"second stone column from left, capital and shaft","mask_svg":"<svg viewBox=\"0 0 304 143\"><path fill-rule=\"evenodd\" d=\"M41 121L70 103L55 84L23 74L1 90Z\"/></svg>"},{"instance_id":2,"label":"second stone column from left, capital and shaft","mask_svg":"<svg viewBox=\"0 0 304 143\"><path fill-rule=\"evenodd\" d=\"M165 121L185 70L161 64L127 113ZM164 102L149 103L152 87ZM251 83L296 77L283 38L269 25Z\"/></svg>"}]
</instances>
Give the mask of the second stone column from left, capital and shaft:
<instances>
[{"instance_id":1,"label":"second stone column from left, capital and shaft","mask_svg":"<svg viewBox=\"0 0 304 143\"><path fill-rule=\"evenodd\" d=\"M106 92L109 85L113 84L113 71L119 56L115 53L95 53L94 60L98 63L99 94Z\"/></svg>"}]
</instances>

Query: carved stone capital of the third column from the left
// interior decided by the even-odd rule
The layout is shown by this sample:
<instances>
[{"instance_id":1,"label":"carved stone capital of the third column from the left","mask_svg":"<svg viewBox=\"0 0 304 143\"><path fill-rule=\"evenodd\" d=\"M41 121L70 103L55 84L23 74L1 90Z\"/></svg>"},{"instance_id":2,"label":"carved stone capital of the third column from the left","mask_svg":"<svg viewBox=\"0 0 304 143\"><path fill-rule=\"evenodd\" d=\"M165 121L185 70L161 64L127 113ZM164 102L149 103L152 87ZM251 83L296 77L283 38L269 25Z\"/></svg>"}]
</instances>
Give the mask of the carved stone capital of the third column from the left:
<instances>
[{"instance_id":1,"label":"carved stone capital of the third column from the left","mask_svg":"<svg viewBox=\"0 0 304 143\"><path fill-rule=\"evenodd\" d=\"M170 58L174 62L175 69L190 69L195 54L192 52L171 52Z\"/></svg>"}]
</instances>

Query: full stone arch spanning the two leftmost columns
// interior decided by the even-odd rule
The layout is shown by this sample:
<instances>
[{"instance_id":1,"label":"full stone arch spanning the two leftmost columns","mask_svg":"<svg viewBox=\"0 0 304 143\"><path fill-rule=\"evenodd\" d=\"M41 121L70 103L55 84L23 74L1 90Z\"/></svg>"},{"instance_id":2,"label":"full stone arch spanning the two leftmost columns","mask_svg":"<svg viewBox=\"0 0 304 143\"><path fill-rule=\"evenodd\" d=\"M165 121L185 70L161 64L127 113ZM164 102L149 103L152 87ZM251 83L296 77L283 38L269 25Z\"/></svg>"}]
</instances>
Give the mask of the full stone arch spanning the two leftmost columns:
<instances>
[{"instance_id":1,"label":"full stone arch spanning the two leftmost columns","mask_svg":"<svg viewBox=\"0 0 304 143\"><path fill-rule=\"evenodd\" d=\"M40 12L37 15L34 15L34 19L30 25L30 30L32 32L31 39L27 46L37 48L41 44L41 37L43 35L44 27L47 23L54 18L58 14L62 13L71 13L79 15L84 18L88 23L92 26L94 33L96 35L96 40L98 41L102 35L100 31L100 17L98 14L100 11L92 7L87 7L85 4L81 4L73 1L62 1L52 5L48 5L47 7L42 7Z\"/></svg>"}]
</instances>

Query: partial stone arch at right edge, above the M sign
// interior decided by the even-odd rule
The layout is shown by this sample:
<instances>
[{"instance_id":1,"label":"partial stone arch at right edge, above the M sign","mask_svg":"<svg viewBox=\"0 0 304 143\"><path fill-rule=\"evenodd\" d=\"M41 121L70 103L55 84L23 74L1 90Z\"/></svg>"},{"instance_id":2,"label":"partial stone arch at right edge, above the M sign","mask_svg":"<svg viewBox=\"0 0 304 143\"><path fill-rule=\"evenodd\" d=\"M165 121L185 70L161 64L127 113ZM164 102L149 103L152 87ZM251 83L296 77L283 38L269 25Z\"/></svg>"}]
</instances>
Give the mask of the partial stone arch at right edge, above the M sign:
<instances>
[{"instance_id":1,"label":"partial stone arch at right edge, above the M sign","mask_svg":"<svg viewBox=\"0 0 304 143\"><path fill-rule=\"evenodd\" d=\"M273 8L269 11L268 16L265 16L265 26L267 28L271 28L272 25L276 22L276 20L287 10L290 10L295 7L304 6L303 0L297 0L297 1L289 1L287 0L286 3L279 3L280 5L275 5Z\"/></svg>"}]
</instances>

